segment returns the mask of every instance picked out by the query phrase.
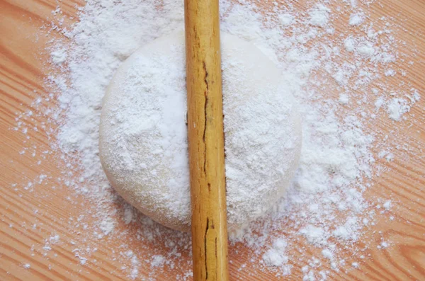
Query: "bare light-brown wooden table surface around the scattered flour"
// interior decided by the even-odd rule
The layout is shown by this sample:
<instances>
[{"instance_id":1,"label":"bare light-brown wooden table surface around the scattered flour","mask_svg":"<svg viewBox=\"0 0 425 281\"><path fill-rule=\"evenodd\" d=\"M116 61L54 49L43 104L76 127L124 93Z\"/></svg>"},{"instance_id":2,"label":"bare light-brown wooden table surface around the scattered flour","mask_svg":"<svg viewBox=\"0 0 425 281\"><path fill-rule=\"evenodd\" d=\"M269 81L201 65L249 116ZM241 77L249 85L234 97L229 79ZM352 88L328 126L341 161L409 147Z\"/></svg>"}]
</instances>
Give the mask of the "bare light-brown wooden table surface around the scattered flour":
<instances>
[{"instance_id":1,"label":"bare light-brown wooden table surface around the scattered flour","mask_svg":"<svg viewBox=\"0 0 425 281\"><path fill-rule=\"evenodd\" d=\"M300 10L302 2L294 2ZM397 135L408 147L396 150L394 161L382 161L384 171L374 178L373 188L365 194L368 198L392 198L390 214L395 219L391 222L378 220L375 227L366 232L368 249L361 254L368 258L362 260L359 270L347 265L339 272L330 271L329 280L425 280L425 151L422 150L425 147L425 40L418 33L418 30L425 30L425 1L380 2L382 6L371 6L373 18L386 15L408 19L398 22L407 32L397 34L397 38L418 46L407 80L419 90L421 100L404 122L393 122L387 117L376 121L380 130ZM63 13L75 16L76 3L60 1ZM35 96L48 94L43 87L48 73L44 48L52 36L59 38L60 34L53 30L50 37L42 36L40 27L50 22L51 11L56 6L55 0L0 0L0 280L130 280L128 272L121 270L130 265L111 258L119 251L122 241L134 241L130 243L132 251L141 256L166 253L166 250L152 243L138 242L135 225L120 224L118 229L128 231L113 239L81 236L74 231L75 222L70 221L70 217L77 218L91 210L84 196L75 195L64 185L53 187L40 183L29 190L23 188L39 176L40 171L47 171L49 177L60 177L63 171L63 164L55 158L54 152L33 157L28 149L21 154L23 147L33 145L37 151L50 150L50 140L43 130L29 130L23 134L11 129L16 127L16 117L20 113L34 110L31 104ZM54 103L52 101L52 105ZM42 128L45 120L28 117L25 122ZM52 250L43 250L55 235L60 236L60 241L50 241ZM382 237L391 243L388 248L378 249ZM79 248L97 248L84 265L75 252L76 243ZM307 243L299 243L305 252L312 253ZM302 256L302 253L294 255ZM347 252L347 260L350 255L352 253ZM238 268L250 257L249 250L243 246L230 247L230 257L233 280L302 280L301 268L306 264L306 260L301 260L289 277L275 277L268 270L239 272ZM188 251L183 251L181 260L180 268L166 266L160 270L162 273L158 271L154 276L150 265L142 262L139 279L151 276L157 280L173 280L176 271L183 275L190 269ZM322 261L326 268L327 263ZM24 268L26 263L30 268Z\"/></svg>"}]
</instances>

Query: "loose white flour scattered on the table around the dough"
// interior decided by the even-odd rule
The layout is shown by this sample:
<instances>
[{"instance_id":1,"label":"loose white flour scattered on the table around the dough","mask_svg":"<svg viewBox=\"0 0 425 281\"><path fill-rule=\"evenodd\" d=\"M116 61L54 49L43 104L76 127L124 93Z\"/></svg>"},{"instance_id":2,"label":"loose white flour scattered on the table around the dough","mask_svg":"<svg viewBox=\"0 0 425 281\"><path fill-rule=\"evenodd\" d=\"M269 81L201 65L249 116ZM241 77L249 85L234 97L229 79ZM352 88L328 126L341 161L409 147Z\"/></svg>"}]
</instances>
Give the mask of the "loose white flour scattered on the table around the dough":
<instances>
[{"instance_id":1,"label":"loose white flour scattered on the table around the dough","mask_svg":"<svg viewBox=\"0 0 425 281\"><path fill-rule=\"evenodd\" d=\"M396 51L402 42L392 34L389 21L370 22L368 6L356 1L317 2L307 1L305 11L300 11L280 2L264 8L254 1L220 1L222 31L254 43L278 65L283 79L297 93L302 113L300 168L288 196L232 241L231 260L237 260L241 247L253 253L246 264L232 264L241 272L254 268L290 275L293 268L305 264L301 269L305 280L324 280L332 270L361 266L361 258L367 256L358 253L368 244L363 232L378 216L370 209L377 203L365 200L363 193L370 188L370 179L378 176L378 158L391 161L393 157L393 144L381 142L385 136L373 120L405 120L419 100L411 86L387 86L387 79L406 75L397 71L404 63L399 59L403 54ZM98 126L106 86L137 48L181 29L183 4L171 0L87 1L78 23L70 27L62 26L60 7L55 14L54 29L67 40L56 40L50 50L56 70L48 83L59 101L59 109L50 116L60 124L53 147L62 151L67 164L66 185L90 200L98 222L84 224L81 232L96 239L115 239L123 235L118 224L137 224L137 240L164 245L169 253L152 254L145 260L147 253L135 253L131 243L123 244L123 254L114 257L125 264L122 270L131 278L142 278L145 276L138 268L150 263L154 277L163 267L179 265L188 274L174 277L190 277L188 236L159 226L120 200L98 158ZM339 30L336 23L346 28ZM379 149L377 158L372 151ZM384 212L390 210L390 203L386 206ZM303 251L300 241L317 251L293 260L292 255ZM352 253L353 259L340 258L341 250ZM92 253L86 251L84 258L89 261ZM186 253L186 258L181 258L181 253Z\"/></svg>"}]
</instances>

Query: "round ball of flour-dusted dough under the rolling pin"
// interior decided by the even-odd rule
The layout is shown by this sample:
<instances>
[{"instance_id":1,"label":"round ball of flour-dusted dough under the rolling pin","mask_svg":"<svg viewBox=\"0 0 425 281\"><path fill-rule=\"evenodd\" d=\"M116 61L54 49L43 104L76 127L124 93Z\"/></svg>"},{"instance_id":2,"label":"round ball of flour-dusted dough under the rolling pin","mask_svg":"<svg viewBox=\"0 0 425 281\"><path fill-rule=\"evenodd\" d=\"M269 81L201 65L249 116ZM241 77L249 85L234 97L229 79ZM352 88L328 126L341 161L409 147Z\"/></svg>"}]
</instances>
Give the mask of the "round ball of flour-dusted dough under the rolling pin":
<instances>
[{"instance_id":1,"label":"round ball of flour-dusted dough under the rolling pin","mask_svg":"<svg viewBox=\"0 0 425 281\"><path fill-rule=\"evenodd\" d=\"M100 156L118 193L155 221L190 229L183 33L129 57L103 100ZM266 213L290 185L301 126L290 88L254 45L222 35L229 231Z\"/></svg>"}]
</instances>

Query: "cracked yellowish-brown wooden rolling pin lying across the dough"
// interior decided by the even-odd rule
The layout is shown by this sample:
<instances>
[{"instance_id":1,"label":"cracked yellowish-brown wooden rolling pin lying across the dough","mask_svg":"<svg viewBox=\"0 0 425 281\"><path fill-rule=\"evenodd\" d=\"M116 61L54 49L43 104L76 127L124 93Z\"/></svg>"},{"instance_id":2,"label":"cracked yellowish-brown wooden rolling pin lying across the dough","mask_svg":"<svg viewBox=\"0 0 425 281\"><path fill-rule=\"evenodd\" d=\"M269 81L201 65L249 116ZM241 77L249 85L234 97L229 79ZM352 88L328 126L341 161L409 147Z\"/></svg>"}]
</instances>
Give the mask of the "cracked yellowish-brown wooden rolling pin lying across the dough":
<instances>
[{"instance_id":1,"label":"cracked yellowish-brown wooden rolling pin lying across the dough","mask_svg":"<svg viewBox=\"0 0 425 281\"><path fill-rule=\"evenodd\" d=\"M185 0L193 280L228 280L218 0Z\"/></svg>"}]
</instances>

